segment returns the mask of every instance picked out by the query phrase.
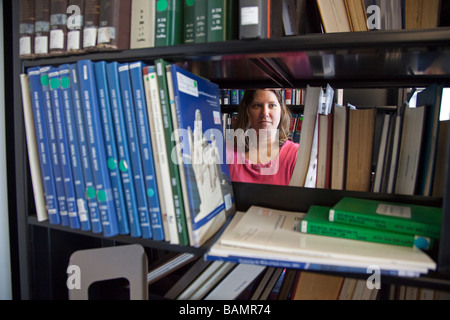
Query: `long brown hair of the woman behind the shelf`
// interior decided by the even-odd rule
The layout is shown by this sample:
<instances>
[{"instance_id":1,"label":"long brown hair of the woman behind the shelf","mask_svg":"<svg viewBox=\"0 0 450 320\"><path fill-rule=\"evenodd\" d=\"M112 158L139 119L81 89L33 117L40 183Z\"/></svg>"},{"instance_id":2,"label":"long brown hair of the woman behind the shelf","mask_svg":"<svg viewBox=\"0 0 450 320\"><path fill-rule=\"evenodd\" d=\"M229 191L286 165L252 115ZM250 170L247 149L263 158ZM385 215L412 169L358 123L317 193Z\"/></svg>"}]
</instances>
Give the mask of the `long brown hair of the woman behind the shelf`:
<instances>
[{"instance_id":1,"label":"long brown hair of the woman behind the shelf","mask_svg":"<svg viewBox=\"0 0 450 320\"><path fill-rule=\"evenodd\" d=\"M249 108L254 100L255 94L258 90L268 90L272 91L275 96L277 97L278 103L281 106L281 117L280 117L280 123L278 124L278 136L279 136L279 146L281 147L286 140L290 139L290 131L289 126L291 122L291 113L284 103L283 94L281 90L276 89L251 89L246 90L244 93L244 96L242 97L242 100L239 104L238 109L238 116L237 120L233 126L233 129L242 129L247 130L249 128L250 123L250 117L249 117ZM247 139L248 140L248 139ZM248 151L248 141L245 143L246 145L246 151Z\"/></svg>"}]
</instances>

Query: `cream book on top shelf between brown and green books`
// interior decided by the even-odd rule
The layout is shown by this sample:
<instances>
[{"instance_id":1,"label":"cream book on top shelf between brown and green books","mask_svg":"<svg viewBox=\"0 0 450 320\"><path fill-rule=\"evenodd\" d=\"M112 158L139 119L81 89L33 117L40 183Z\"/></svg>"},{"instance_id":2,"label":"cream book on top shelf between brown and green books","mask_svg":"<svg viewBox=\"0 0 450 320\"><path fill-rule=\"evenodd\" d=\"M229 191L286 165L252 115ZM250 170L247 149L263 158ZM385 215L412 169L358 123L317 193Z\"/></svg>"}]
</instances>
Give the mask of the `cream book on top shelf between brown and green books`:
<instances>
[{"instance_id":1,"label":"cream book on top shelf between brown and green books","mask_svg":"<svg viewBox=\"0 0 450 320\"><path fill-rule=\"evenodd\" d=\"M132 0L130 49L155 46L155 0Z\"/></svg>"}]
</instances>

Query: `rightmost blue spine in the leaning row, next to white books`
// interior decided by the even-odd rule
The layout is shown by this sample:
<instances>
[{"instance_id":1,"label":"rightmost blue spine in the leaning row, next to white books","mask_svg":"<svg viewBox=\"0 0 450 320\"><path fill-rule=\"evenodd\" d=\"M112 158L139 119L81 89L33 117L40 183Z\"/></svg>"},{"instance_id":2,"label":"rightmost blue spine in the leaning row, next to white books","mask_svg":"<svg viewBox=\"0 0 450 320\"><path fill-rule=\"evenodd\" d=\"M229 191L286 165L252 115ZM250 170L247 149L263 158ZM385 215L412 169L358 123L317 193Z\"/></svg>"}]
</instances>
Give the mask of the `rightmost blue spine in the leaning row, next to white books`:
<instances>
[{"instance_id":1,"label":"rightmost blue spine in the leaning row, next to white books","mask_svg":"<svg viewBox=\"0 0 450 320\"><path fill-rule=\"evenodd\" d=\"M134 97L135 117L140 142L144 182L147 193L147 203L150 211L153 240L164 240L161 206L156 182L155 162L153 158L150 124L145 98L142 62L130 63L130 78Z\"/></svg>"}]
</instances>

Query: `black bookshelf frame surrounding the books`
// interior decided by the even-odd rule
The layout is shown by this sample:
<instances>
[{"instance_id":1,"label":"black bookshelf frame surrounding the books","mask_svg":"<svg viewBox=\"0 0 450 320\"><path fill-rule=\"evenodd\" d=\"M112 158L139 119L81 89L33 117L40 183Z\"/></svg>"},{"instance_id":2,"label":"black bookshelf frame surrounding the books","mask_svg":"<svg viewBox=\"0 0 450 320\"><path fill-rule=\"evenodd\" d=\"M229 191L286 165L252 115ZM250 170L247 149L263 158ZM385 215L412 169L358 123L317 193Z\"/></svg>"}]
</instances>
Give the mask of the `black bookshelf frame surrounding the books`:
<instances>
[{"instance_id":1,"label":"black bookshelf frame surrounding the books","mask_svg":"<svg viewBox=\"0 0 450 320\"><path fill-rule=\"evenodd\" d=\"M64 299L67 296L66 264L79 249L139 243L148 250L149 262L167 251L202 255L202 248L174 246L165 242L128 236L104 238L90 232L38 222L29 176L19 74L39 65L59 65L79 59L93 61L154 61L163 58L177 62L224 88L292 87L309 85L337 88L422 87L432 83L450 86L450 28L377 31L368 33L307 34L254 41L232 40L210 44L186 44L117 52L21 60L18 54L19 2L7 4L11 10L11 73L6 98L13 111L7 114L13 135L7 138L8 185L12 243L17 244L15 281L20 299ZM9 21L9 20L8 20ZM447 143L450 145L450 139ZM449 148L450 149L450 148ZM449 158L450 155L447 155ZM448 161L447 161L448 162ZM449 168L447 168L449 169ZM449 194L450 170L446 176ZM450 290L450 199L392 194L357 193L295 187L233 183L238 210L251 204L280 209L306 210L311 204L330 205L344 195L427 204L443 208L442 236L434 257L438 272L425 277L392 278L403 283ZM214 238L209 243L214 241Z\"/></svg>"}]
</instances>

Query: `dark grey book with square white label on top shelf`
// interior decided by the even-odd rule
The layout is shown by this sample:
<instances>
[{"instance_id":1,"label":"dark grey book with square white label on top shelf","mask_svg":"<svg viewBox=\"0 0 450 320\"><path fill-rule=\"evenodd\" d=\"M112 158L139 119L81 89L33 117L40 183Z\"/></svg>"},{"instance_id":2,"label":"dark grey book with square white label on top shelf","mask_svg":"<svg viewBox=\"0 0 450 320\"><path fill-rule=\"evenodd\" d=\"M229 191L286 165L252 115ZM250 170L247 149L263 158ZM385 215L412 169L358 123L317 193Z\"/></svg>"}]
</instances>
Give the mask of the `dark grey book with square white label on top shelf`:
<instances>
[{"instance_id":1,"label":"dark grey book with square white label on top shelf","mask_svg":"<svg viewBox=\"0 0 450 320\"><path fill-rule=\"evenodd\" d=\"M239 39L283 36L282 5L276 0L239 1Z\"/></svg>"}]
</instances>

